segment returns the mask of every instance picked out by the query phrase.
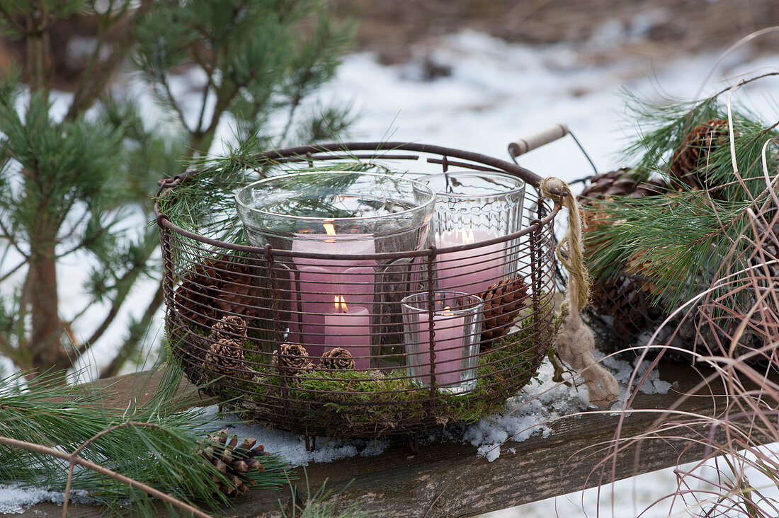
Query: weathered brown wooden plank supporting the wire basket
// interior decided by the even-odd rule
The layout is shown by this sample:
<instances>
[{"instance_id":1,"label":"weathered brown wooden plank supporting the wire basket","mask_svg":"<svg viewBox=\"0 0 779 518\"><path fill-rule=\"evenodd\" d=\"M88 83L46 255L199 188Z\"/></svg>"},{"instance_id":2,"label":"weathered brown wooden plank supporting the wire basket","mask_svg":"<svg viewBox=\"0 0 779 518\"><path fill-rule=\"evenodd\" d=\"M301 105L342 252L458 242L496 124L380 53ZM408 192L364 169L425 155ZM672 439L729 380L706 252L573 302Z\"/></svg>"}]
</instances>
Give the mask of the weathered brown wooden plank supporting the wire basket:
<instances>
[{"instance_id":1,"label":"weathered brown wooden plank supporting the wire basket","mask_svg":"<svg viewBox=\"0 0 779 518\"><path fill-rule=\"evenodd\" d=\"M705 372L704 372L705 374ZM636 398L634 409L663 411L689 391L700 380L701 372L679 365L662 368L661 379L676 382L677 389L665 395L645 395ZM154 377L151 378L153 380ZM136 379L125 377L112 385L121 402L125 389L136 385ZM690 398L680 410L698 414L714 414L718 396ZM148 396L148 391L146 391ZM126 404L125 396L125 404ZM622 437L645 432L657 418L657 413L634 411L622 426ZM548 437L533 436L523 442L506 442L500 457L492 463L477 457L472 446L453 442L422 446L412 456L403 441L390 446L378 457L353 457L333 463L312 464L298 471L294 483L298 494L306 494L305 479L312 492L327 480L327 488L339 493L339 509L356 504L360 509L380 516L472 516L497 509L534 502L582 488L598 485L597 464L606 456L597 448L614 435L619 415L587 413L563 418L552 425ZM686 432L693 435L693 431ZM675 435L685 435L676 430ZM594 448L594 446L596 446ZM516 453L509 453L508 449ZM604 482L673 466L679 462L699 459L702 446L690 446L682 441L644 441L639 462L635 449L619 456L616 470L611 464L605 470ZM281 492L252 491L235 501L231 516L280 516L279 501L291 505L291 488ZM162 511L162 509L160 509ZM34 506L24 516L56 516L57 506ZM72 508L72 516L99 516L91 506Z\"/></svg>"}]
</instances>

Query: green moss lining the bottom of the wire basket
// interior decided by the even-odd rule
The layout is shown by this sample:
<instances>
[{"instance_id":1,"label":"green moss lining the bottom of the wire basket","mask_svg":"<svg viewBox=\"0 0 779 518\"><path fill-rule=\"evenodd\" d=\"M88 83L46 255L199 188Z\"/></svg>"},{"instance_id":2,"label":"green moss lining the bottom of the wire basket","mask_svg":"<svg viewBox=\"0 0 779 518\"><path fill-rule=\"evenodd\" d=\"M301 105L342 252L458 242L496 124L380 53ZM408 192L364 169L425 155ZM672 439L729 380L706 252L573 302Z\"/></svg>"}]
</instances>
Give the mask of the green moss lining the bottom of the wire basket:
<instances>
[{"instance_id":1,"label":"green moss lining the bottom of the wire basket","mask_svg":"<svg viewBox=\"0 0 779 518\"><path fill-rule=\"evenodd\" d=\"M477 421L505 407L537 375L544 351L536 347L533 320L521 330L492 343L479 356L476 389L453 395L414 384L404 369L392 371L314 370L282 384L275 368L252 365L253 379L218 379L211 376L206 392L220 398L231 411L252 421L266 421L317 435L390 435L431 425ZM251 341L251 340L249 340ZM267 356L247 351L246 359L259 364ZM205 376L209 378L209 376ZM286 423L286 425L284 425Z\"/></svg>"}]
</instances>

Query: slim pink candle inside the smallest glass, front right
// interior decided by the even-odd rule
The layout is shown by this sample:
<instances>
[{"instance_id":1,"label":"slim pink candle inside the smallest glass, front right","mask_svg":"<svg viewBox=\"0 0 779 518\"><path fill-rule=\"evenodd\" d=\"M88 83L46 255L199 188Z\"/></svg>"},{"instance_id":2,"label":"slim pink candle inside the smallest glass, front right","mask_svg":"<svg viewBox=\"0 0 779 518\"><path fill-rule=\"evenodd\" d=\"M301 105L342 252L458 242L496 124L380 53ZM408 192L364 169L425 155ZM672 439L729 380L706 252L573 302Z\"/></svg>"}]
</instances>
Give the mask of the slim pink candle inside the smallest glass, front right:
<instances>
[{"instance_id":1,"label":"slim pink candle inside the smallest glass, front right","mask_svg":"<svg viewBox=\"0 0 779 518\"><path fill-rule=\"evenodd\" d=\"M463 374L463 354L466 351L464 347L465 321L462 316L453 316L449 311L449 306L442 312L433 314L433 330L435 331L435 342L433 351L435 351L435 381L439 385L449 385L459 383ZM427 315L419 315L420 337L428 337L430 332L430 321ZM432 382L430 379L430 347L429 344L420 344L418 349L417 364L419 365L419 374L422 375L422 381L428 385Z\"/></svg>"}]
</instances>

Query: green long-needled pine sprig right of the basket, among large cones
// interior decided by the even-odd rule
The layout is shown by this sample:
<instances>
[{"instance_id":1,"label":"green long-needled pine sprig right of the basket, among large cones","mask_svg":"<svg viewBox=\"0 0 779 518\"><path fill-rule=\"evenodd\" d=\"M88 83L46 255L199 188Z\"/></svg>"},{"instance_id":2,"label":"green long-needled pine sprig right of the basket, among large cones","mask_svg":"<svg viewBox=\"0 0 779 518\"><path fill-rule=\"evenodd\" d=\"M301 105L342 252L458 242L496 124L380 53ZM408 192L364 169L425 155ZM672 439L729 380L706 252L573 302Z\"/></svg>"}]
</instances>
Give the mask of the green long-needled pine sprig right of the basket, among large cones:
<instances>
[{"instance_id":1,"label":"green long-needled pine sprig right of the basket, among large cones","mask_svg":"<svg viewBox=\"0 0 779 518\"><path fill-rule=\"evenodd\" d=\"M615 196L590 206L597 224L588 232L590 269L596 277L640 270L650 280L656 301L673 308L720 277L749 266L748 209L760 211L768 199L761 164L763 144L777 132L747 111L732 111L734 174L728 143L716 146L696 174L717 185L717 196L674 181L668 162L686 134L710 119L728 119L721 93L695 103L653 104L633 99L640 139L626 157L646 177L657 175L676 187L665 196L643 199ZM768 174L777 171L776 150L769 150ZM740 301L734 301L739 304Z\"/></svg>"}]
</instances>

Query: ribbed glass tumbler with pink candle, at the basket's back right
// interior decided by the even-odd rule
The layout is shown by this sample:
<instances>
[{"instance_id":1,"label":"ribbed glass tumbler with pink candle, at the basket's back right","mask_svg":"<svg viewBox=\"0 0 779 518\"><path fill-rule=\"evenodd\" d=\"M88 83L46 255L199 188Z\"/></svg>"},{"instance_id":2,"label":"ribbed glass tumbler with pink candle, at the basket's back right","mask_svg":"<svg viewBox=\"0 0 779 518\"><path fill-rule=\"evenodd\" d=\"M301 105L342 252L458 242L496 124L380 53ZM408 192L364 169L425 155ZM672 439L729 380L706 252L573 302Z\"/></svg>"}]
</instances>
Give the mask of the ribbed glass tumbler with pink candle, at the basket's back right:
<instances>
[{"instance_id":1,"label":"ribbed glass tumbler with pink candle, at the basket's back right","mask_svg":"<svg viewBox=\"0 0 779 518\"><path fill-rule=\"evenodd\" d=\"M514 234L522 228L525 182L492 171L451 171L419 178L436 196L428 245L449 248ZM482 294L520 270L517 240L437 257L439 290Z\"/></svg>"}]
</instances>

